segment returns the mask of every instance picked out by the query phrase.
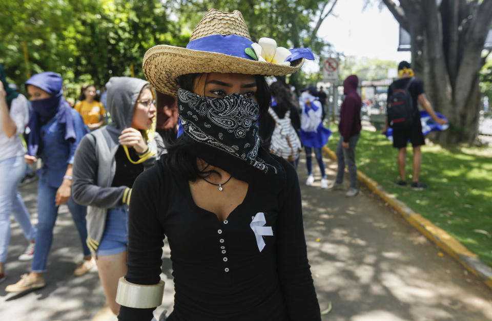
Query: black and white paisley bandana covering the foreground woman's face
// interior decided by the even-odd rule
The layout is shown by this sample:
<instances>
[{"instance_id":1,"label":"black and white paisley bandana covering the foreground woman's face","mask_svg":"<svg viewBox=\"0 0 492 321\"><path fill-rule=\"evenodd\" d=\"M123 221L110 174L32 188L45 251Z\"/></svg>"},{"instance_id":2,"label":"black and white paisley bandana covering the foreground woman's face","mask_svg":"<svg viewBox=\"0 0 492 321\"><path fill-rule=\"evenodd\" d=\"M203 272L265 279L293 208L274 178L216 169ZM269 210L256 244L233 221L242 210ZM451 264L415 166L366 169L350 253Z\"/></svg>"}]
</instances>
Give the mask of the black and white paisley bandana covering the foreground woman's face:
<instances>
[{"instance_id":1,"label":"black and white paisley bandana covering the foreground woman's face","mask_svg":"<svg viewBox=\"0 0 492 321\"><path fill-rule=\"evenodd\" d=\"M258 155L259 105L254 100L239 93L211 98L180 88L178 106L183 130L194 141L226 152L264 174L277 174L277 166Z\"/></svg>"}]
</instances>

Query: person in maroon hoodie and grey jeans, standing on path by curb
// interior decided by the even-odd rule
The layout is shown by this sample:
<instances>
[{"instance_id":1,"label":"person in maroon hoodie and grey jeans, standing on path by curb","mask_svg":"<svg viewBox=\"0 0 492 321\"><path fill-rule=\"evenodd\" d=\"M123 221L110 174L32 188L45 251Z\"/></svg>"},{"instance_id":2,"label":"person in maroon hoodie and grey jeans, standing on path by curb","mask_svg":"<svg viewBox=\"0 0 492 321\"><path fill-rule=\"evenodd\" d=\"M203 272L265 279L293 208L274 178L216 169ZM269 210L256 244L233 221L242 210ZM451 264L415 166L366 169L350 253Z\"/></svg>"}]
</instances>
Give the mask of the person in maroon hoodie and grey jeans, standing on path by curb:
<instances>
[{"instance_id":1,"label":"person in maroon hoodie and grey jeans, standing on path by curb","mask_svg":"<svg viewBox=\"0 0 492 321\"><path fill-rule=\"evenodd\" d=\"M355 146L360 137L362 125L360 123L360 109L362 100L357 93L359 78L356 75L350 75L343 81L343 99L340 109L340 122L338 131L340 140L337 146L338 170L337 178L333 189L343 189L343 176L345 165L348 166L348 175L350 176L350 187L345 196L356 196L359 192L357 188L357 166L355 164Z\"/></svg>"}]
</instances>

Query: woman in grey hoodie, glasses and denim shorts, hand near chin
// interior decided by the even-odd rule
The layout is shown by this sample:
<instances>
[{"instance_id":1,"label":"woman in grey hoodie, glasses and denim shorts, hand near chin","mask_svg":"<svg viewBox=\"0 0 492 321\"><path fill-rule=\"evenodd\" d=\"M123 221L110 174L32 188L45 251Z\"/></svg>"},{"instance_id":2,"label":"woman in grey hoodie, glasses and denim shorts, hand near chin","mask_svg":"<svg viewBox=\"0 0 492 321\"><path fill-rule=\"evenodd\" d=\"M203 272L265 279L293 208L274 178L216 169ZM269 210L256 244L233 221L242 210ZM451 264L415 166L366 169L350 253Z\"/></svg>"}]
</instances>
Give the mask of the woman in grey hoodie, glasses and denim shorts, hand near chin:
<instances>
[{"instance_id":1,"label":"woman in grey hoodie, glasses and denim shorts, hand near chin","mask_svg":"<svg viewBox=\"0 0 492 321\"><path fill-rule=\"evenodd\" d=\"M111 310L118 279L126 274L128 204L133 182L163 153L155 133L153 92L145 80L112 77L106 84L113 122L91 132L75 153L73 195L87 205L87 244Z\"/></svg>"}]
</instances>

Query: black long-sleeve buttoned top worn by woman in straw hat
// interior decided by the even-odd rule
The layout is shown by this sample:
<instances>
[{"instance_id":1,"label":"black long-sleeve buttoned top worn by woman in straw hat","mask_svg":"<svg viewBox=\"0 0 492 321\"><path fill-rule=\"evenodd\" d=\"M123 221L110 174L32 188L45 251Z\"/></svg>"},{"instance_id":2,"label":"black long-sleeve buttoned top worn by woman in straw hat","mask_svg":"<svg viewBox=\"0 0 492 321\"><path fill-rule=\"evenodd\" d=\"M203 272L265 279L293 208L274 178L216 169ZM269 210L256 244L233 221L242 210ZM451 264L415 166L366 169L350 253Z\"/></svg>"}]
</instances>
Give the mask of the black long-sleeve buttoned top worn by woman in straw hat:
<instances>
[{"instance_id":1,"label":"black long-sleeve buttoned top worn by woman in straw hat","mask_svg":"<svg viewBox=\"0 0 492 321\"><path fill-rule=\"evenodd\" d=\"M281 192L273 194L266 181L250 183L221 222L194 203L188 181L167 168L165 157L133 186L126 279L158 283L167 237L175 284L169 321L320 320L294 168L276 157L287 178ZM259 212L273 229L261 252L250 227ZM150 320L152 311L121 307L118 319Z\"/></svg>"}]
</instances>

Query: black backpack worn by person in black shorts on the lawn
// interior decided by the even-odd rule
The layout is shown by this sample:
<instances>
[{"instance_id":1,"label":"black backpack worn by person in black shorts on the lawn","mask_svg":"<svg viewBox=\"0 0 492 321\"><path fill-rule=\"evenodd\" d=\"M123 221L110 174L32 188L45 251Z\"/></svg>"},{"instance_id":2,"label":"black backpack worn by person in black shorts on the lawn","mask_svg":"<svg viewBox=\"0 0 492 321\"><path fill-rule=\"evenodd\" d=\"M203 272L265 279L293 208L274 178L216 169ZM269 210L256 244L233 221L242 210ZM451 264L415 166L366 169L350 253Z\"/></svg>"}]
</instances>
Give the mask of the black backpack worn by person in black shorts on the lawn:
<instances>
[{"instance_id":1,"label":"black backpack worn by person in black shorts on the lawn","mask_svg":"<svg viewBox=\"0 0 492 321\"><path fill-rule=\"evenodd\" d=\"M387 117L389 125L396 129L406 129L414 122L414 104L408 91L414 78L410 78L404 89L394 89L388 97Z\"/></svg>"}]
</instances>

